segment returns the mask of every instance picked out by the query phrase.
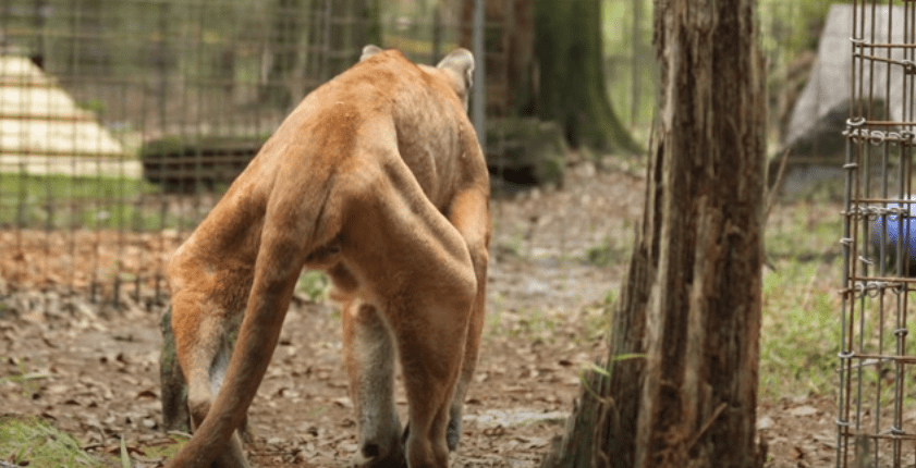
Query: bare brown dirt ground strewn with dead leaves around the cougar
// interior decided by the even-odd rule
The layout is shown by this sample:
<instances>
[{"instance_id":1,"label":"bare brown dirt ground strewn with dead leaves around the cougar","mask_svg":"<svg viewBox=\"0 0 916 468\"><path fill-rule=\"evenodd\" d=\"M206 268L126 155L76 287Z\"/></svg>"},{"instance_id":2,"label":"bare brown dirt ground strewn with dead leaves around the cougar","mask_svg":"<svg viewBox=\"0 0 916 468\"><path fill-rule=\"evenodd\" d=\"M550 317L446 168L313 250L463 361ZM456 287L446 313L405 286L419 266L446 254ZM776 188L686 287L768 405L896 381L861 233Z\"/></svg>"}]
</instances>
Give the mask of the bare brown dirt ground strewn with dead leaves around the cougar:
<instances>
[{"instance_id":1,"label":"bare brown dirt ground strewn with dead leaves around the cougar","mask_svg":"<svg viewBox=\"0 0 916 468\"><path fill-rule=\"evenodd\" d=\"M494 201L487 328L453 467L536 467L562 432L582 369L607 355L606 301L623 280L644 183L642 170L579 161L562 188ZM172 443L158 399L166 305L126 296L99 310L85 294L45 290L0 279L0 414L47 418L95 452L117 452L123 435L141 466L161 466L154 448ZM338 467L355 453L340 348L333 307L297 295L251 409L258 466ZM398 405L403 415L403 394ZM832 395L762 401L768 466L832 464L834 415Z\"/></svg>"}]
</instances>

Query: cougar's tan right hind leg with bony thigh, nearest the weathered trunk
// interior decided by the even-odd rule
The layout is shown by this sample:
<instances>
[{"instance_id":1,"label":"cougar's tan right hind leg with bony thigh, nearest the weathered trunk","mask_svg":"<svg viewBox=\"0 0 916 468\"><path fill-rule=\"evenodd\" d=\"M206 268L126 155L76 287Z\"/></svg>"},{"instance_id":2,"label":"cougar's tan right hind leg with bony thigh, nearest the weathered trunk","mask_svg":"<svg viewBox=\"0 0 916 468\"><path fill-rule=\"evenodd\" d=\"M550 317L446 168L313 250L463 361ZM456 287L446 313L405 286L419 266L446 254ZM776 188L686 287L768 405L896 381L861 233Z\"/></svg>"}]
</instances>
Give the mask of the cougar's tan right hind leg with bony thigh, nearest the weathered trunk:
<instances>
[{"instance_id":1,"label":"cougar's tan right hind leg with bony thigh, nearest the weathered trunk","mask_svg":"<svg viewBox=\"0 0 916 468\"><path fill-rule=\"evenodd\" d=\"M447 468L445 430L477 278L467 243L396 152L374 153L350 199L343 256L390 324L407 393L411 468ZM374 168L372 165L376 165Z\"/></svg>"}]
</instances>

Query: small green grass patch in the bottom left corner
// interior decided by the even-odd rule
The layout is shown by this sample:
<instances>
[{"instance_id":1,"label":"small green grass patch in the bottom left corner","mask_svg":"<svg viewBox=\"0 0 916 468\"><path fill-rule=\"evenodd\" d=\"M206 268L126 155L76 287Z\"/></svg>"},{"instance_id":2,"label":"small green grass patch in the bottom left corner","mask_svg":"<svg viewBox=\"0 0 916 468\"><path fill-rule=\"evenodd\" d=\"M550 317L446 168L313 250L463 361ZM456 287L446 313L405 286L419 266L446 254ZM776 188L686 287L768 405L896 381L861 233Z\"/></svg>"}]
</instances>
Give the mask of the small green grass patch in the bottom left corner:
<instances>
[{"instance_id":1,"label":"small green grass patch in the bottom left corner","mask_svg":"<svg viewBox=\"0 0 916 468\"><path fill-rule=\"evenodd\" d=\"M0 459L16 466L110 467L90 456L73 436L38 418L0 417Z\"/></svg>"}]
</instances>

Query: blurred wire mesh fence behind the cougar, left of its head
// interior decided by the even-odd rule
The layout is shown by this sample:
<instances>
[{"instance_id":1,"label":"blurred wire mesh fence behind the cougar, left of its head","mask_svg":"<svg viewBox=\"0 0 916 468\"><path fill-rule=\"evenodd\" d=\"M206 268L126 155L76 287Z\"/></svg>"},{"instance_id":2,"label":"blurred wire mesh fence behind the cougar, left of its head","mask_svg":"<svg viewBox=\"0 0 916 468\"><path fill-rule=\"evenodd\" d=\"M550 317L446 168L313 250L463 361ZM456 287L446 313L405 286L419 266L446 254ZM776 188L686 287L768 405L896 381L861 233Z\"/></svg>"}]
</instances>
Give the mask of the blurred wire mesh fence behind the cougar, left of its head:
<instances>
[{"instance_id":1,"label":"blurred wire mesh fence behind the cougar, left of its head","mask_svg":"<svg viewBox=\"0 0 916 468\"><path fill-rule=\"evenodd\" d=\"M159 300L168 255L368 42L429 63L460 2L0 4L0 294Z\"/></svg>"}]
</instances>

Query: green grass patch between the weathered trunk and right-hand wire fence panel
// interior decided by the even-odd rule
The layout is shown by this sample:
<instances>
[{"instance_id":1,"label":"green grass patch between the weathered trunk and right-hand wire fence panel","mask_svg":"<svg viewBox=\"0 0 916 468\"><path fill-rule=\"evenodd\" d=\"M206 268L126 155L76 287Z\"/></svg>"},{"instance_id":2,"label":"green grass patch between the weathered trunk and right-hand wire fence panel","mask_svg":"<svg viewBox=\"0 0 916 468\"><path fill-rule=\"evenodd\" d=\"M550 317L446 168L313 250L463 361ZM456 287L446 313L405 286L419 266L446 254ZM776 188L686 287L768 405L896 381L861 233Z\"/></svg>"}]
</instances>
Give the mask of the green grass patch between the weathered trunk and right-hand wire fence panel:
<instances>
[{"instance_id":1,"label":"green grass patch between the weathered trunk and right-hand wire fence panel","mask_svg":"<svg viewBox=\"0 0 916 468\"><path fill-rule=\"evenodd\" d=\"M766 232L760 394L835 393L840 348L840 208L778 205Z\"/></svg>"}]
</instances>

